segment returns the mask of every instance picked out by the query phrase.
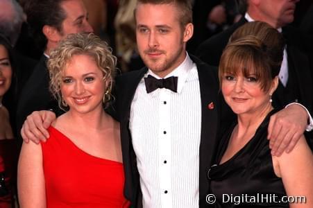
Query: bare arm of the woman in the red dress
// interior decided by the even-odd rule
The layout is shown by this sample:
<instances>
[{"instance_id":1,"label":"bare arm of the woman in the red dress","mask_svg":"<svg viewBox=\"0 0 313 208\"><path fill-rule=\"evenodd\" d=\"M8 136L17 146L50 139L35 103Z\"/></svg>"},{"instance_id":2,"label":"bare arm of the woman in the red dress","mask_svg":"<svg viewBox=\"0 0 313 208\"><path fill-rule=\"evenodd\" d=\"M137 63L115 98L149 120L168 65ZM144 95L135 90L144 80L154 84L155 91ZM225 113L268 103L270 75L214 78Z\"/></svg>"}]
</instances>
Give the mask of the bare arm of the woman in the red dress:
<instances>
[{"instance_id":1,"label":"bare arm of the woman in the red dress","mask_svg":"<svg viewBox=\"0 0 313 208\"><path fill-rule=\"evenodd\" d=\"M24 207L46 207L42 147L33 142L22 145L17 170L19 203Z\"/></svg>"}]
</instances>

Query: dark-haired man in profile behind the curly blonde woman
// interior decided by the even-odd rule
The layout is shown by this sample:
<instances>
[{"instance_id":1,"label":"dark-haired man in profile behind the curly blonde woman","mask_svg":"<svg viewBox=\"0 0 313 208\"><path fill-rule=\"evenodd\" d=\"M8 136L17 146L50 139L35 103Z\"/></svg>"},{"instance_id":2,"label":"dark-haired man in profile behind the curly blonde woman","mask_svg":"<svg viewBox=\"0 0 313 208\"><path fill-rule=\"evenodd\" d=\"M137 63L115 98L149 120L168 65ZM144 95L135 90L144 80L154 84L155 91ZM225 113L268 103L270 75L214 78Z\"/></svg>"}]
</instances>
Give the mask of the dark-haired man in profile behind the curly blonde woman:
<instances>
[{"instance_id":1,"label":"dark-haired man in profile behind the curly blonde woman","mask_svg":"<svg viewBox=\"0 0 313 208\"><path fill-rule=\"evenodd\" d=\"M31 0L24 6L27 21L37 44L44 49L42 58L26 82L17 105L17 130L26 116L35 110L54 109L58 103L49 92L49 72L46 60L58 42L70 33L90 33L87 10L82 0ZM22 141L22 140L20 140Z\"/></svg>"}]
</instances>

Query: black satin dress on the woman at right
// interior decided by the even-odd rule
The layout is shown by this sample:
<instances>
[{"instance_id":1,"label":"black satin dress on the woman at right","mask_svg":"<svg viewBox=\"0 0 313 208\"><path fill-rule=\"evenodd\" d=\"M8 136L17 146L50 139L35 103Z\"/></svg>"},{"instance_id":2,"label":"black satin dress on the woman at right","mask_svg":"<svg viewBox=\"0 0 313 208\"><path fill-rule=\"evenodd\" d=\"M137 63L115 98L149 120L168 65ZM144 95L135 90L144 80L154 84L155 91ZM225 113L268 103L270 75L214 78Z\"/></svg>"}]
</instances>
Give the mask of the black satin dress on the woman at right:
<instances>
[{"instance_id":1,"label":"black satin dress on the woman at right","mask_svg":"<svg viewBox=\"0 0 313 208\"><path fill-rule=\"evenodd\" d=\"M275 112L272 110L254 137L223 164L219 162L237 123L221 139L215 164L208 173L210 193L217 200L214 207L289 207L281 201L286 192L281 178L274 173L267 140L269 117Z\"/></svg>"}]
</instances>

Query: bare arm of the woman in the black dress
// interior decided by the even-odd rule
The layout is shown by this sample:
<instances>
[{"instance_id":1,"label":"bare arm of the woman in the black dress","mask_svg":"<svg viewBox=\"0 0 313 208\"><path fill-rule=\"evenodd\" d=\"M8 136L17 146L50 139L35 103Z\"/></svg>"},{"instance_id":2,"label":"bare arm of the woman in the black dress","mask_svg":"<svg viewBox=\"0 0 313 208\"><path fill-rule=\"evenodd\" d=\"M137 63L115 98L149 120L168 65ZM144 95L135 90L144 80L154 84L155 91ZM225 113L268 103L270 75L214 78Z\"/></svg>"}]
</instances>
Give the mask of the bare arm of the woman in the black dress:
<instances>
[{"instance_id":1,"label":"bare arm of the woman in the black dress","mask_svg":"<svg viewBox=\"0 0 313 208\"><path fill-rule=\"evenodd\" d=\"M313 155L305 137L290 153L273 156L274 171L282 177L288 196L305 196L305 203L290 203L290 207L313 207ZM299 200L299 199L298 199Z\"/></svg>"}]
</instances>

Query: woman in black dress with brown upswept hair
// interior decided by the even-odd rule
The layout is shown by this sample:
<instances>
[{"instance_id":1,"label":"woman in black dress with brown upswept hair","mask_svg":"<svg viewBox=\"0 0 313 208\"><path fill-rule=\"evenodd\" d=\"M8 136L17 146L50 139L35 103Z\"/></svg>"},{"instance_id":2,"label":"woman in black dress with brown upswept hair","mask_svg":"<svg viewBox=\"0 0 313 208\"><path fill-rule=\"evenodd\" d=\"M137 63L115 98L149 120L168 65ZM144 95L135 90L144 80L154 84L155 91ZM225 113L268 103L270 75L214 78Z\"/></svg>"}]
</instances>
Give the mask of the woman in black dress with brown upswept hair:
<instances>
[{"instance_id":1,"label":"woman in black dress with brown upswept hair","mask_svg":"<svg viewBox=\"0 0 313 208\"><path fill-rule=\"evenodd\" d=\"M276 29L251 22L223 51L221 92L237 122L221 139L208 173L208 202L215 207L313 207L313 156L305 137L280 157L271 155L267 139L284 47Z\"/></svg>"}]
</instances>

